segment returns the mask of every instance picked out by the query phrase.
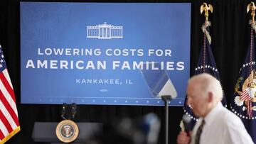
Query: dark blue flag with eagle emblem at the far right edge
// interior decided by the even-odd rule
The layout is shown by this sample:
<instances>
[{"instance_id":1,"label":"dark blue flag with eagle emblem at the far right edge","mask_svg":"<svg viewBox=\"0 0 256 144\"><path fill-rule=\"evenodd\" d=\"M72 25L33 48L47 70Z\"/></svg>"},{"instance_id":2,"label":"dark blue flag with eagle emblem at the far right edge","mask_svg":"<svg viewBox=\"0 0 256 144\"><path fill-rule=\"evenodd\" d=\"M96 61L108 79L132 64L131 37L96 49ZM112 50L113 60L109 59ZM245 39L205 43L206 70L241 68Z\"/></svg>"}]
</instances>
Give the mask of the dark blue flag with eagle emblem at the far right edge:
<instances>
[{"instance_id":1,"label":"dark blue flag with eagle emblem at the far right edge","mask_svg":"<svg viewBox=\"0 0 256 144\"><path fill-rule=\"evenodd\" d=\"M256 143L256 23L254 18L250 21L250 26L249 48L247 50L245 60L242 63L242 67L240 68L237 82L235 83L235 92L233 96L230 96L230 109L241 118L247 132Z\"/></svg>"}]
</instances>

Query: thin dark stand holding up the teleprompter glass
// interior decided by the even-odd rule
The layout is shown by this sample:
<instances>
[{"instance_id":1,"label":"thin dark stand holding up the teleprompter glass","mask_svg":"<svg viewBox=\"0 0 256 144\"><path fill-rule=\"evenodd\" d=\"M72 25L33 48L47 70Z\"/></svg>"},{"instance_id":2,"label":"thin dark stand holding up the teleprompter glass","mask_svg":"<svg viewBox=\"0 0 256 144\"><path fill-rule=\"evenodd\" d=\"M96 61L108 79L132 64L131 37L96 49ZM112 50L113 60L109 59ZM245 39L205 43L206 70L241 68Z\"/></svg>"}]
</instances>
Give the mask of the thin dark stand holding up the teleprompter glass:
<instances>
[{"instance_id":1,"label":"thin dark stand holding up the teleprompter glass","mask_svg":"<svg viewBox=\"0 0 256 144\"><path fill-rule=\"evenodd\" d=\"M168 144L168 131L169 131L169 101L171 101L171 95L164 95L161 96L161 99L164 101L164 106L166 109L166 116L165 116L165 142Z\"/></svg>"}]
</instances>

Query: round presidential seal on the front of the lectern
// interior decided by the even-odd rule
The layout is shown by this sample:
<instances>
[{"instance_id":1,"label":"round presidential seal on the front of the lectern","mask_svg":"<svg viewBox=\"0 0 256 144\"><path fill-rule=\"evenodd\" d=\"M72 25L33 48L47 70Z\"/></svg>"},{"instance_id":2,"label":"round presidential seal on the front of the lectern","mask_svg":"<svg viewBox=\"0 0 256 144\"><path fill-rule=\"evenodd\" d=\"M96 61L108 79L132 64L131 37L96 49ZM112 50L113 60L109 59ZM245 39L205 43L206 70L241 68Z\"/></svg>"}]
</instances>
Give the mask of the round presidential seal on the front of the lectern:
<instances>
[{"instance_id":1,"label":"round presidential seal on the front of the lectern","mask_svg":"<svg viewBox=\"0 0 256 144\"><path fill-rule=\"evenodd\" d=\"M63 143L73 142L78 138L78 125L74 121L63 120L56 127L56 135Z\"/></svg>"}]
</instances>

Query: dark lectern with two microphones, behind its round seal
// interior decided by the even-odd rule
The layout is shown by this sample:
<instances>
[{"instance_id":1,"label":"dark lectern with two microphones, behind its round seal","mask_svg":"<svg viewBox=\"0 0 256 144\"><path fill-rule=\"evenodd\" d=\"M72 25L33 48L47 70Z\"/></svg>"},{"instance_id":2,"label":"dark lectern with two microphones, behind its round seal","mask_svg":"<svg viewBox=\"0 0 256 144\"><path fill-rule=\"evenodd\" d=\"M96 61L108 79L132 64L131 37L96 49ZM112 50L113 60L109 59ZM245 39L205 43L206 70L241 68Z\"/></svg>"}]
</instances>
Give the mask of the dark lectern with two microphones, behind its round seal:
<instances>
[{"instance_id":1,"label":"dark lectern with two microphones, behind its round seal","mask_svg":"<svg viewBox=\"0 0 256 144\"><path fill-rule=\"evenodd\" d=\"M95 135L102 134L102 123L77 123L79 128L78 138L70 144L84 144ZM55 128L58 123L36 122L33 127L32 138L36 142L49 142L63 144L58 140Z\"/></svg>"}]
</instances>

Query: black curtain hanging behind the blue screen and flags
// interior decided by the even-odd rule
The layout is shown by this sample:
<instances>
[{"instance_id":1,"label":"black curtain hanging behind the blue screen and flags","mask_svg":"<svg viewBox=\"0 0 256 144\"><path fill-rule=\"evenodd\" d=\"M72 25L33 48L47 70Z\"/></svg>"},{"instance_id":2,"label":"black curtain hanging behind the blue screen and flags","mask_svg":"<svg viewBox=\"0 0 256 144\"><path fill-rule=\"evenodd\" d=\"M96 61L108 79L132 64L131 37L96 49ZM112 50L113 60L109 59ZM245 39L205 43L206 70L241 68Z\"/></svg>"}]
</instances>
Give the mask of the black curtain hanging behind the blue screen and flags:
<instances>
[{"instance_id":1,"label":"black curtain hanging behind the blue screen and flags","mask_svg":"<svg viewBox=\"0 0 256 144\"><path fill-rule=\"evenodd\" d=\"M19 2L18 0L0 1L0 43L4 50L6 65L14 86L18 117L21 124L21 131L14 135L7 143L33 144L36 143L31 138L33 123L35 121L58 122L62 119L60 118L60 105L21 104ZM210 13L209 17L212 24L210 27L210 35L213 40L211 46L229 105L229 98L233 95L238 71L250 43L250 26L248 24L250 14L246 13L247 4L250 3L249 0L91 0L84 2L191 2L191 75L193 75L194 66L198 61L199 50L201 49L201 45L203 45L201 25L205 18L200 13L200 6L203 2L212 4L213 13ZM27 77L27 79L30 79L30 77ZM164 143L164 106L80 105L78 106L75 121L103 122L105 119L114 119L120 116L136 118L150 112L156 113L161 118L162 127L159 135L159 144ZM169 108L169 143L176 143L176 136L180 131L179 123L182 115L183 107L171 106Z\"/></svg>"}]
</instances>

